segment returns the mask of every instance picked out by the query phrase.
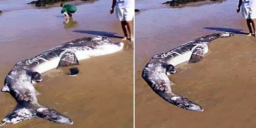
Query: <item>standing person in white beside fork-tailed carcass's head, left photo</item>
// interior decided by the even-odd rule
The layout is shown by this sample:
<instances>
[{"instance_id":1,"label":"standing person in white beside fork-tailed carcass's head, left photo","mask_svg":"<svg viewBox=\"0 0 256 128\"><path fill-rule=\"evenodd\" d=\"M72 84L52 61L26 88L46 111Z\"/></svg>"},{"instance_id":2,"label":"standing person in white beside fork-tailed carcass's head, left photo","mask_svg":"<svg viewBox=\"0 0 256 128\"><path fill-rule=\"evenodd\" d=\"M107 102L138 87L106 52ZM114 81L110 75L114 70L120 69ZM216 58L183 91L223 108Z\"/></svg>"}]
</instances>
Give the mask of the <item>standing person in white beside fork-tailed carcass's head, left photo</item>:
<instances>
[{"instance_id":1,"label":"standing person in white beside fork-tailed carcass's head, left photo","mask_svg":"<svg viewBox=\"0 0 256 128\"><path fill-rule=\"evenodd\" d=\"M130 40L133 41L133 15L134 15L134 0L113 0L112 6L110 8L110 14L116 10L117 18L121 21L122 30L124 32L124 38L122 40L128 39L128 33L130 34Z\"/></svg>"}]
</instances>

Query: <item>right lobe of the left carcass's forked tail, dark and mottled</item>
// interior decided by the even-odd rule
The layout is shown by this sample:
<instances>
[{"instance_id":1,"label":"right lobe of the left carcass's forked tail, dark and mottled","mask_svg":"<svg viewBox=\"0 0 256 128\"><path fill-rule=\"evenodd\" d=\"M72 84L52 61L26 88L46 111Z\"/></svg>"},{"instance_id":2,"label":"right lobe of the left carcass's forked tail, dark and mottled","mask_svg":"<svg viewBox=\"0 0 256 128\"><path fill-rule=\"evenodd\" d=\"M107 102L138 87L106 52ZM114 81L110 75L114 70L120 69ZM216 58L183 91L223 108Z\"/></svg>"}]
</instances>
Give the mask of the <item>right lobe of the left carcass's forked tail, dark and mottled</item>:
<instances>
[{"instance_id":1,"label":"right lobe of the left carcass's forked tail, dark and mottled","mask_svg":"<svg viewBox=\"0 0 256 128\"><path fill-rule=\"evenodd\" d=\"M59 124L68 124L68 125L73 124L73 121L70 118L60 114L59 112L53 110L52 108L40 106L40 108L38 108L36 111L37 111L37 116L40 118L44 118Z\"/></svg>"}]
</instances>

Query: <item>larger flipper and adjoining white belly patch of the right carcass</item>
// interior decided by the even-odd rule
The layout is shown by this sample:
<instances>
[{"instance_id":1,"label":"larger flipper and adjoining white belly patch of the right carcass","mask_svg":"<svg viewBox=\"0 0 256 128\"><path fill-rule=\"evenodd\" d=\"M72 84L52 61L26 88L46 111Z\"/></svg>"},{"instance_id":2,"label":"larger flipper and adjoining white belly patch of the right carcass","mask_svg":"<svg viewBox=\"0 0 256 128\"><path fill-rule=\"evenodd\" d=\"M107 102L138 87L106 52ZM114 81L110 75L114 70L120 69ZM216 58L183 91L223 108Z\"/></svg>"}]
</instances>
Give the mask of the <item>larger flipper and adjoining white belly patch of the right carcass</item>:
<instances>
[{"instance_id":1,"label":"larger flipper and adjoining white belly patch of the right carcass","mask_svg":"<svg viewBox=\"0 0 256 128\"><path fill-rule=\"evenodd\" d=\"M195 63L203 59L204 54L208 51L207 44L199 45L192 51L189 63Z\"/></svg>"}]
</instances>

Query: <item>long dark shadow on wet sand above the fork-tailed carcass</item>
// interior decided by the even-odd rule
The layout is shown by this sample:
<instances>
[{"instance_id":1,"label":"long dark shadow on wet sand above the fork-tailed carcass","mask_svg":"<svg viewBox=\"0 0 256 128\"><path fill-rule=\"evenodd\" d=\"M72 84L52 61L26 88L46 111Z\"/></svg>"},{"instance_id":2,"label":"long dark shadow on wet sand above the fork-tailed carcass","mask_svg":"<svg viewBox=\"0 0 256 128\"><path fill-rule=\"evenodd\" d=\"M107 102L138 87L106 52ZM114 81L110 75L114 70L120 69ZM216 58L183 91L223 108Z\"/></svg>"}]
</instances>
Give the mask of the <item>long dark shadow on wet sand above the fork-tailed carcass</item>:
<instances>
[{"instance_id":1,"label":"long dark shadow on wet sand above the fork-tailed carcass","mask_svg":"<svg viewBox=\"0 0 256 128\"><path fill-rule=\"evenodd\" d=\"M74 32L86 33L86 34L91 34L91 35L98 35L98 36L103 36L103 37L108 37L108 38L120 38L120 39L123 38L123 37L120 37L120 36L116 36L117 33L106 32L106 31L74 30Z\"/></svg>"}]
</instances>

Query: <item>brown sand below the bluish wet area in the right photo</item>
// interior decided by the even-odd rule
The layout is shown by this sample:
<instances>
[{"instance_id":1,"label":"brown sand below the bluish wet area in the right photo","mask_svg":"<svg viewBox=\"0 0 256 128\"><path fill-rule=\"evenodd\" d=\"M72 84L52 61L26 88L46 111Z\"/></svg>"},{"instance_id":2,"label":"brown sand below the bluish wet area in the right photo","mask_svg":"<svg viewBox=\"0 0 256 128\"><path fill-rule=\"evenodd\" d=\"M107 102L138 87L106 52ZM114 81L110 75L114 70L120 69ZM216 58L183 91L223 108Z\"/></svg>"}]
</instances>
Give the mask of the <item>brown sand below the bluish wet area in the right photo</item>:
<instances>
[{"instance_id":1,"label":"brown sand below the bluish wet area in the right photo","mask_svg":"<svg viewBox=\"0 0 256 128\"><path fill-rule=\"evenodd\" d=\"M136 92L138 128L254 128L256 38L236 35L217 39L195 64L183 63L170 77L174 93L203 106L203 112L182 110L162 100L145 82ZM227 49L228 48L228 49ZM139 88L139 87L138 87ZM143 104L142 104L143 103ZM143 109L143 110L142 110Z\"/></svg>"}]
</instances>

